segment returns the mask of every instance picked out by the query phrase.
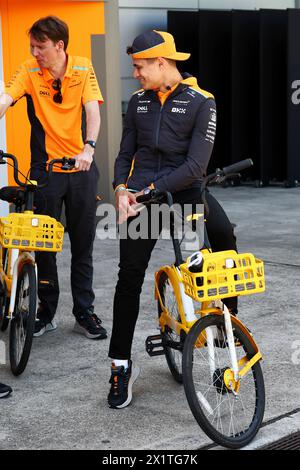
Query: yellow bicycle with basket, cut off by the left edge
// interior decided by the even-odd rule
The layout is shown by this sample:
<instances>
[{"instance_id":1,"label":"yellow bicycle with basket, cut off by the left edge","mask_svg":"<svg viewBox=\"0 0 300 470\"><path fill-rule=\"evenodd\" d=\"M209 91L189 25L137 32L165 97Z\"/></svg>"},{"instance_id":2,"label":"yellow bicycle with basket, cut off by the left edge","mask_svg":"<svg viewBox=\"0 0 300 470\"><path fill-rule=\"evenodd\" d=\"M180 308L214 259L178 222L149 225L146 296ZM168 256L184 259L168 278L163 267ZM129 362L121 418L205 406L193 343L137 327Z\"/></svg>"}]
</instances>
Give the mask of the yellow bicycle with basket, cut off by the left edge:
<instances>
[{"instance_id":1,"label":"yellow bicycle with basket, cut off by the left edge","mask_svg":"<svg viewBox=\"0 0 300 470\"><path fill-rule=\"evenodd\" d=\"M18 376L29 359L36 320L38 277L34 252L59 252L64 237L60 222L34 213L34 195L48 184L54 165L69 170L75 160L51 160L48 178L43 184L28 178L20 181L16 157L0 151L0 164L8 164L8 160L13 162L18 186L0 189L0 199L14 205L13 212L0 218L0 330L4 332L10 324L10 366L12 373Z\"/></svg>"}]
</instances>

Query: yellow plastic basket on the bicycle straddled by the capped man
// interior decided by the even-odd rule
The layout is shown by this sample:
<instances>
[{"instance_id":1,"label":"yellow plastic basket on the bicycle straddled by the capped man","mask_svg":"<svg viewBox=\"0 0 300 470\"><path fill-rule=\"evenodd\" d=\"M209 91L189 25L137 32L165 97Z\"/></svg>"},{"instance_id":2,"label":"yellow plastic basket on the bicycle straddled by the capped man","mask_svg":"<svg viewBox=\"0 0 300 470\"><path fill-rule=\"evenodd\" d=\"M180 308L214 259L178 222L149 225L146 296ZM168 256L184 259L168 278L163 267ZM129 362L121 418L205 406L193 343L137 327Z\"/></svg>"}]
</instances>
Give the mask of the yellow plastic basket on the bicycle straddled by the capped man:
<instances>
[{"instance_id":1,"label":"yellow plastic basket on the bicycle straddled by the capped man","mask_svg":"<svg viewBox=\"0 0 300 470\"><path fill-rule=\"evenodd\" d=\"M257 294L265 290L263 262L251 253L234 250L203 253L201 272L191 272L188 262L180 265L187 295L198 302Z\"/></svg>"}]
</instances>

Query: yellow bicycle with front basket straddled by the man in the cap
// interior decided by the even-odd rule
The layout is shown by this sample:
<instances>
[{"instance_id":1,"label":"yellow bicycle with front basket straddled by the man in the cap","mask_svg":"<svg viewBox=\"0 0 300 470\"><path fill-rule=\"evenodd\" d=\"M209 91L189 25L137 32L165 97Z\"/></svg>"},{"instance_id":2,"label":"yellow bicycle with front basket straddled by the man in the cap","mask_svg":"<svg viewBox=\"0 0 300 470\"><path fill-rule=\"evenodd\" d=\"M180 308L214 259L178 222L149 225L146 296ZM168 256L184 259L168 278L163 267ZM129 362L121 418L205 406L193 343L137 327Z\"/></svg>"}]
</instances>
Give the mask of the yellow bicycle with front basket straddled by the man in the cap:
<instances>
[{"instance_id":1,"label":"yellow bicycle with front basket straddled by the man in the cap","mask_svg":"<svg viewBox=\"0 0 300 470\"><path fill-rule=\"evenodd\" d=\"M243 160L203 180L205 217L207 186L251 165L250 159ZM167 202L175 254L174 264L155 273L160 334L147 338L146 350L150 356L165 355L174 379L184 385L196 421L213 441L232 449L244 447L264 416L262 355L252 333L230 313L224 299L264 292L263 262L251 253L212 252L205 224L203 247L184 261L175 236L172 195L154 189L137 202Z\"/></svg>"}]
</instances>

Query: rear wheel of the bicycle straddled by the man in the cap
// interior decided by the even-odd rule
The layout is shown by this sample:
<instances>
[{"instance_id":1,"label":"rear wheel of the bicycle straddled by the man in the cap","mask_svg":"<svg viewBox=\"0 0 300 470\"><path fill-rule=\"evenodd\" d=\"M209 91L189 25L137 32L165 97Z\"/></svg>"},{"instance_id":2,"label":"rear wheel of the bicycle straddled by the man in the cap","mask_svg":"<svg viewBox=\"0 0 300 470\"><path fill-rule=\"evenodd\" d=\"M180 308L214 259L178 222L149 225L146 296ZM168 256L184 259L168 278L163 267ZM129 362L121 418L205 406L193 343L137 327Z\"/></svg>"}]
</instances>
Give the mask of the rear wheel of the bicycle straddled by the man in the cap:
<instances>
[{"instance_id":1,"label":"rear wheel of the bicycle straddled by the man in the cap","mask_svg":"<svg viewBox=\"0 0 300 470\"><path fill-rule=\"evenodd\" d=\"M167 309L169 315L177 322L181 322L180 313L178 310L178 303L172 282L166 273L162 273L158 285L160 297L164 307ZM160 301L157 302L158 317L162 314ZM182 338L175 330L168 325L165 326L164 331L161 329L162 343L165 350L165 356L168 367L174 379L178 383L182 383Z\"/></svg>"}]
</instances>

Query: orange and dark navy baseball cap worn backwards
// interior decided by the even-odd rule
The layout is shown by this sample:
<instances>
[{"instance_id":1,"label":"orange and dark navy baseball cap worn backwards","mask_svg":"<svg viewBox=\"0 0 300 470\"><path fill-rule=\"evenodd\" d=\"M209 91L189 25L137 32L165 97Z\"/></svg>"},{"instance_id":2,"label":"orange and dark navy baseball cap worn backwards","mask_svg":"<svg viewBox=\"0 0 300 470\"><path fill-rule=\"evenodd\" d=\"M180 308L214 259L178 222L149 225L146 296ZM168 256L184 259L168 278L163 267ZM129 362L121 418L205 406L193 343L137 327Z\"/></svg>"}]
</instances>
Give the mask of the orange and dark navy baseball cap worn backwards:
<instances>
[{"instance_id":1,"label":"orange and dark navy baseball cap worn backwards","mask_svg":"<svg viewBox=\"0 0 300 470\"><path fill-rule=\"evenodd\" d=\"M187 60L191 54L177 52L174 37L165 31L147 31L135 38L127 54L133 59L155 59L164 57L171 60Z\"/></svg>"}]
</instances>

